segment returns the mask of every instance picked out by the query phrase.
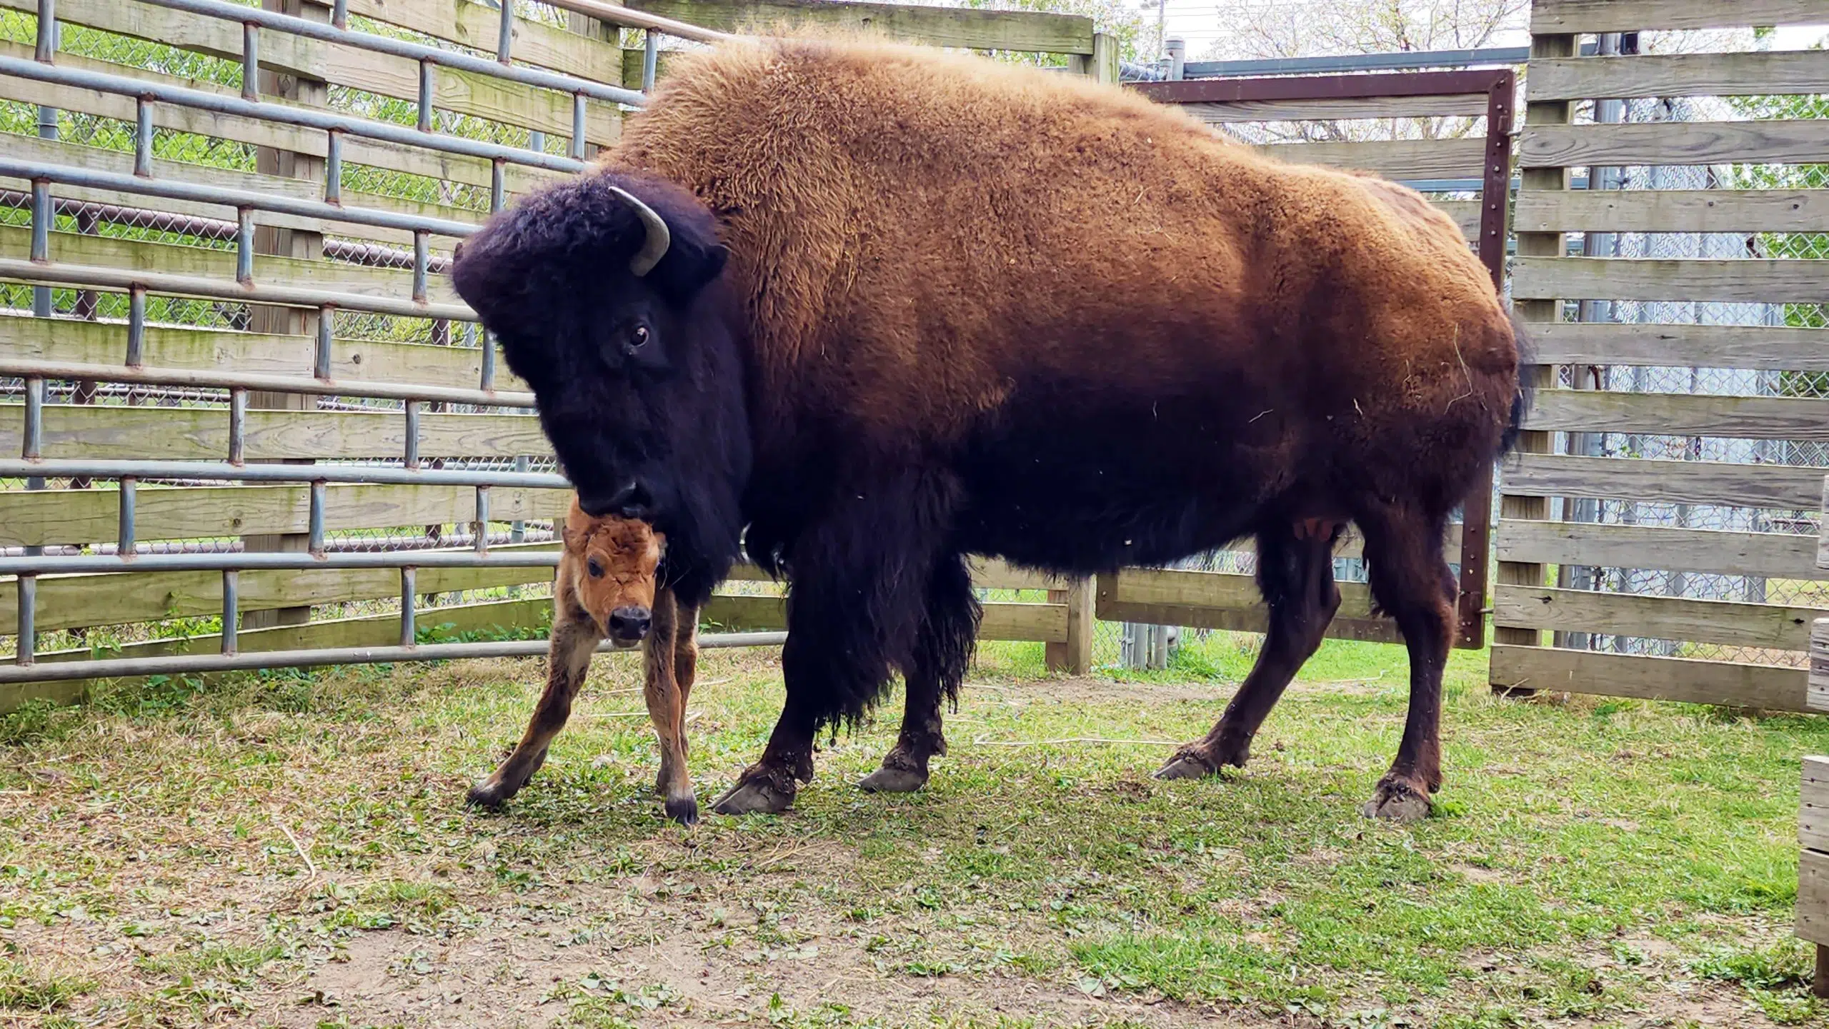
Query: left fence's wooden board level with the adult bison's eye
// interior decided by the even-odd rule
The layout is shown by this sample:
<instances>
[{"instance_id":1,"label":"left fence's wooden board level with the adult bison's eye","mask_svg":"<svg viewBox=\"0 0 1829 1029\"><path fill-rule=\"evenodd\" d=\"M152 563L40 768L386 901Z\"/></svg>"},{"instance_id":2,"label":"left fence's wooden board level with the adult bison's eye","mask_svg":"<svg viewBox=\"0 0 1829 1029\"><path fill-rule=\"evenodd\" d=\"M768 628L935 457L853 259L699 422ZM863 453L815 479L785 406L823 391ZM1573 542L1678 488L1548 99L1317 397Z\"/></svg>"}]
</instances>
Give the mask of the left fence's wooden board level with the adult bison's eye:
<instances>
[{"instance_id":1,"label":"left fence's wooden board level with the adult bison's eye","mask_svg":"<svg viewBox=\"0 0 1829 1029\"><path fill-rule=\"evenodd\" d=\"M143 364L150 369L309 377L316 340L229 329L148 325L141 347ZM0 351L13 358L121 364L126 360L126 324L0 314ZM377 340L335 340L331 344L331 378L338 382L412 382L415 386L476 389L481 384L481 371L483 351L479 347ZM499 355L496 356L496 389L529 389L507 369Z\"/></svg>"}]
</instances>

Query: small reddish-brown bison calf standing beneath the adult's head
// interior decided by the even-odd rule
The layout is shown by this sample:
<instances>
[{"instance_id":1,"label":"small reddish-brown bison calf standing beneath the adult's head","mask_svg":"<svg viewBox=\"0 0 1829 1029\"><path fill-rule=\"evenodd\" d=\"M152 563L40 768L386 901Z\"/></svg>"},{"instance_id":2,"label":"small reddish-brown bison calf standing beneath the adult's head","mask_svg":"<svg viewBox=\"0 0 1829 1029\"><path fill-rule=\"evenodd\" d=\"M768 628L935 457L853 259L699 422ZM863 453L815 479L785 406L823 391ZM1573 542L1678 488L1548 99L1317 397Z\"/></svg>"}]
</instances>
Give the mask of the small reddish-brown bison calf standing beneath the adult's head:
<instances>
[{"instance_id":1,"label":"small reddish-brown bison calf standing beneath the adult's head","mask_svg":"<svg viewBox=\"0 0 1829 1029\"><path fill-rule=\"evenodd\" d=\"M571 716L572 696L605 638L616 647L646 647L647 716L660 737L660 775L655 791L668 817L699 821L699 801L686 771L686 696L699 662L699 609L677 603L657 585L666 539L647 523L591 517L572 499L565 515L565 552L552 589L552 647L547 652L547 691L534 707L519 746L483 782L470 802L497 808L514 797L547 760L552 737Z\"/></svg>"}]
</instances>

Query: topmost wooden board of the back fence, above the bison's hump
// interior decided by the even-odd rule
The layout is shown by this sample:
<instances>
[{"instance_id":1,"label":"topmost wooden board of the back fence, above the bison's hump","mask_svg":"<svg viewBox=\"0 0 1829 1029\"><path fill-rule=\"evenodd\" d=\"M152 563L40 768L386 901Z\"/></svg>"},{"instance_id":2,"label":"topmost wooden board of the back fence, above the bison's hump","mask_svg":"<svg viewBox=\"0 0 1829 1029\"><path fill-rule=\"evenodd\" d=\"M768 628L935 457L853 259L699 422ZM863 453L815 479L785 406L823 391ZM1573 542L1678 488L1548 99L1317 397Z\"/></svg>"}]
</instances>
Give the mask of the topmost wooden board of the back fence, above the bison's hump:
<instances>
[{"instance_id":1,"label":"topmost wooden board of the back fence, above the bison's hump","mask_svg":"<svg viewBox=\"0 0 1829 1029\"><path fill-rule=\"evenodd\" d=\"M821 4L816 0L631 0L629 7L728 33L865 29L904 42L969 49L1092 53L1092 18L1041 11Z\"/></svg>"}]
</instances>

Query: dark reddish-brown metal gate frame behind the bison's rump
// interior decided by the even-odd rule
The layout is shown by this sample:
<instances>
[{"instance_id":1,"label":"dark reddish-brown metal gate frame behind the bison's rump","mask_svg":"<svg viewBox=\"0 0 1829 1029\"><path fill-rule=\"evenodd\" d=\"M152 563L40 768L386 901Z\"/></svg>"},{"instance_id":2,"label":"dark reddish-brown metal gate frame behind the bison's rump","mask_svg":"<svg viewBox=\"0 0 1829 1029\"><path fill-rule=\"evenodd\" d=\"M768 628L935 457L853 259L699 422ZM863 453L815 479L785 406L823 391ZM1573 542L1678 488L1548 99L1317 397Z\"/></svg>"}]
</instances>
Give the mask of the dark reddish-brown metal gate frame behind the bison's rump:
<instances>
[{"instance_id":1,"label":"dark reddish-brown metal gate frame behind the bison's rump","mask_svg":"<svg viewBox=\"0 0 1829 1029\"><path fill-rule=\"evenodd\" d=\"M1236 104L1249 101L1364 101L1392 97L1487 95L1485 164L1480 185L1480 263L1492 287L1505 291L1505 216L1511 194L1511 135L1518 73L1511 68L1467 71L1396 71L1370 75L1278 75L1258 79L1183 79L1132 82L1161 104ZM1485 647L1489 568L1492 561L1492 464L1461 506L1460 649Z\"/></svg>"}]
</instances>

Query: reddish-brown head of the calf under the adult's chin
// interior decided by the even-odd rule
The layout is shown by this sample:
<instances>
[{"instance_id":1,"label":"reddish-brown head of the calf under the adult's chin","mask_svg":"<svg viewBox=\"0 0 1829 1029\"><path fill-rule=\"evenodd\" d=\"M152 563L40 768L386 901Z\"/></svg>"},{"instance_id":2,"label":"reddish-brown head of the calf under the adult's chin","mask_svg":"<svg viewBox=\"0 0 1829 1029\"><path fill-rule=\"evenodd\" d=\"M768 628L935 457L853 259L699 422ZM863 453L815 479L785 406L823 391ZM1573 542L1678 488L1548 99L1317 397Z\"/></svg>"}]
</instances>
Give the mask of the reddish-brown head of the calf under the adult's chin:
<instances>
[{"instance_id":1,"label":"reddish-brown head of the calf under the adult's chin","mask_svg":"<svg viewBox=\"0 0 1829 1029\"><path fill-rule=\"evenodd\" d=\"M647 636L655 610L655 576L666 537L646 521L583 514L572 499L565 515L565 556L571 568L563 587L618 647Z\"/></svg>"}]
</instances>

